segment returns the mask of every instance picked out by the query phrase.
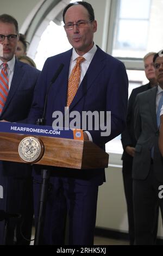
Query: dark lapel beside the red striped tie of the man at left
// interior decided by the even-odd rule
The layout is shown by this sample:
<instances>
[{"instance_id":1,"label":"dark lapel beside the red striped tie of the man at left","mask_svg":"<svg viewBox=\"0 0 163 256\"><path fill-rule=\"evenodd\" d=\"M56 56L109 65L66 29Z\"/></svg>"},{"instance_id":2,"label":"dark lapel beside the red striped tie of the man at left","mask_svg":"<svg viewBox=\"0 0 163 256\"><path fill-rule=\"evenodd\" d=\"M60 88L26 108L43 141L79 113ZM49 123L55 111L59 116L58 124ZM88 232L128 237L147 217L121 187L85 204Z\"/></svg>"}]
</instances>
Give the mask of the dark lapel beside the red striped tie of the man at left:
<instances>
[{"instance_id":1,"label":"dark lapel beside the red striped tie of the man at left","mask_svg":"<svg viewBox=\"0 0 163 256\"><path fill-rule=\"evenodd\" d=\"M15 95L17 89L21 86L23 74L24 74L24 70L22 70L21 64L18 63L17 60L15 60L14 75L12 77L11 87L9 90L7 101L5 102L5 106L3 108L3 112L5 111L5 109L8 108L12 100L12 97Z\"/></svg>"}]
</instances>

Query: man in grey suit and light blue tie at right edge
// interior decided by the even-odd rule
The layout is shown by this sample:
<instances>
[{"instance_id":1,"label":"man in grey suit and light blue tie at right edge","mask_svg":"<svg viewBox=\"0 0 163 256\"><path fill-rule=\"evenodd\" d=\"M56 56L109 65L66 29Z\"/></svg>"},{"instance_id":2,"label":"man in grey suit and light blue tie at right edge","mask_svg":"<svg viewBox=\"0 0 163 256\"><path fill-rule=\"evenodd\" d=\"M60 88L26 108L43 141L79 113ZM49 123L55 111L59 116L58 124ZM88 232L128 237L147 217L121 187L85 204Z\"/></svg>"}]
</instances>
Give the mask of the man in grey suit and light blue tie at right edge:
<instances>
[{"instance_id":1,"label":"man in grey suit and light blue tie at right edge","mask_svg":"<svg viewBox=\"0 0 163 256\"><path fill-rule=\"evenodd\" d=\"M163 216L163 200L159 186L163 181L163 161L158 147L160 108L163 103L162 61L153 57L158 86L141 93L135 103L135 137L137 139L133 160L133 200L135 219L135 244L153 245L153 230L158 205Z\"/></svg>"}]
</instances>

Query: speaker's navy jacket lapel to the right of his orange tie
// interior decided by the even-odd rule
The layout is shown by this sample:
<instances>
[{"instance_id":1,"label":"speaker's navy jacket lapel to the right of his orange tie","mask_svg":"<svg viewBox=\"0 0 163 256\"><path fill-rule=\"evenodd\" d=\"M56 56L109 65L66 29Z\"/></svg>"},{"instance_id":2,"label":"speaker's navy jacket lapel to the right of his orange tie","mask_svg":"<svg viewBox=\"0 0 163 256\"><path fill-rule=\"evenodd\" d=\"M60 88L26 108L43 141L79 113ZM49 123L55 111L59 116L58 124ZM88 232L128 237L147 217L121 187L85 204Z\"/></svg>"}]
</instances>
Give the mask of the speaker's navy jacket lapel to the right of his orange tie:
<instances>
[{"instance_id":1,"label":"speaker's navy jacket lapel to the right of his orange tie","mask_svg":"<svg viewBox=\"0 0 163 256\"><path fill-rule=\"evenodd\" d=\"M96 80L96 77L103 70L105 66L105 62L103 61L104 59L105 53L98 47L95 56L93 56L89 68L86 71L83 81L78 88L77 94L74 96L74 99L69 108L70 110L86 94L87 90L92 86L93 82Z\"/></svg>"}]
</instances>

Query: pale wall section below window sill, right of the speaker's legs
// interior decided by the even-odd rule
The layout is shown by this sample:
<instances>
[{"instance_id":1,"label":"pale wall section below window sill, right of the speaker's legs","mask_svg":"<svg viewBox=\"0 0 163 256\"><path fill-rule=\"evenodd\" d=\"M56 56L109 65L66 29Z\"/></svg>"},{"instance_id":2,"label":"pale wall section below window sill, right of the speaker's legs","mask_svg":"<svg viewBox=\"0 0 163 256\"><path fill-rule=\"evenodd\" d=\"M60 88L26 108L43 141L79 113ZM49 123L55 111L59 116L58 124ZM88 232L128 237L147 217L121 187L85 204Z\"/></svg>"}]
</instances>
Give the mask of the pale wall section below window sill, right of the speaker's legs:
<instances>
[{"instance_id":1,"label":"pale wall section below window sill, right of the speaker's legs","mask_svg":"<svg viewBox=\"0 0 163 256\"><path fill-rule=\"evenodd\" d=\"M105 170L106 182L99 187L96 226L127 232L126 201L123 193L122 168Z\"/></svg>"}]
</instances>

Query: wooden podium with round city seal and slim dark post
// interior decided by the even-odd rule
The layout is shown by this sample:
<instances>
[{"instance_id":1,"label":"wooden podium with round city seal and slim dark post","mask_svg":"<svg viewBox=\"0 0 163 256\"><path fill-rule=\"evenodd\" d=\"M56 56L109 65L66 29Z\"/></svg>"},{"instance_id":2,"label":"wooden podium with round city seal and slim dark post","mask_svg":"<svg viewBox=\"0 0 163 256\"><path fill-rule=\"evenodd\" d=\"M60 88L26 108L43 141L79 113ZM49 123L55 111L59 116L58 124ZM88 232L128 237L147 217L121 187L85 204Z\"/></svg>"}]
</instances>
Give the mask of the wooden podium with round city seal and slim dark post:
<instances>
[{"instance_id":1,"label":"wooden podium with round city seal and slim dark post","mask_svg":"<svg viewBox=\"0 0 163 256\"><path fill-rule=\"evenodd\" d=\"M37 142L40 143L37 159L23 160L21 156L23 150L25 149L27 154L32 153L34 150L37 151ZM80 169L80 172L82 172L82 169L105 168L108 167L109 155L90 141L42 135L24 135L21 133L2 132L0 129L0 160L40 164L43 167L39 219L34 242L34 245L39 245L43 234L50 176L47 166L75 168Z\"/></svg>"}]
</instances>

